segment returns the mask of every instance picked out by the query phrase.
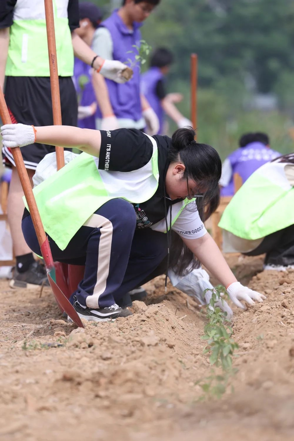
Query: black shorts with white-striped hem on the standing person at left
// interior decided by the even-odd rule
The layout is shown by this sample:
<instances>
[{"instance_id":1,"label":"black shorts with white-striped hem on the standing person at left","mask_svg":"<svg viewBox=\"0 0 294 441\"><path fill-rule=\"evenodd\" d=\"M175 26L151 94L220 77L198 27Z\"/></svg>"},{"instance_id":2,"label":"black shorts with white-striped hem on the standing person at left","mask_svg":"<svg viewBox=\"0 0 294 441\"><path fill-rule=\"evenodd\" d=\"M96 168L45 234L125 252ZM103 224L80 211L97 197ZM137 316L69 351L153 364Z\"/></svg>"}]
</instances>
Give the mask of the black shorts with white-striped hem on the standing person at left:
<instances>
[{"instance_id":1,"label":"black shorts with white-striped hem on the standing person at left","mask_svg":"<svg viewBox=\"0 0 294 441\"><path fill-rule=\"evenodd\" d=\"M77 126L78 103L71 77L59 77L59 87L62 123L65 126ZM34 126L53 125L50 78L7 77L5 100L12 123ZM35 170L44 156L54 150L55 146L37 143L22 147L21 152L26 168ZM2 148L2 156L5 166L15 166L9 148Z\"/></svg>"}]
</instances>

